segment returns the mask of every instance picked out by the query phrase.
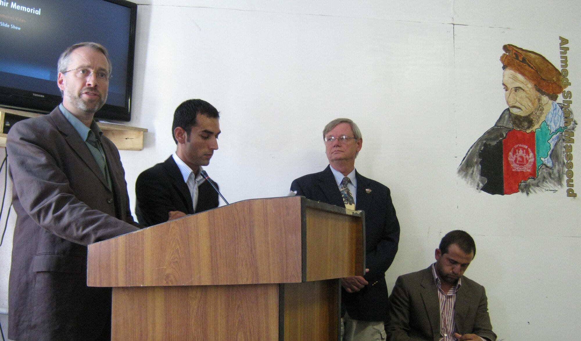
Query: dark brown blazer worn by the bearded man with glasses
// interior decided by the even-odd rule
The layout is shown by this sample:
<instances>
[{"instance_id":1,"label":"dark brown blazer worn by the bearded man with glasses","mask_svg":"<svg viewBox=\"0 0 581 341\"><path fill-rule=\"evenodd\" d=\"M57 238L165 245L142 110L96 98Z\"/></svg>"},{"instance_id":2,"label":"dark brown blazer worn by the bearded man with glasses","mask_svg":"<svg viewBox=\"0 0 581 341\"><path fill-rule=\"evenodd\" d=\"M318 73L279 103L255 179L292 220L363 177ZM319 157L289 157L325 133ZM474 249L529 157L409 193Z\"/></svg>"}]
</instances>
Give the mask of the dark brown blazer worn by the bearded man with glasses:
<instances>
[{"instance_id":1,"label":"dark brown blazer worn by the bearded man with glasses","mask_svg":"<svg viewBox=\"0 0 581 341\"><path fill-rule=\"evenodd\" d=\"M18 215L10 339L94 340L110 328L111 290L87 286L87 245L137 231L138 225L119 152L106 137L101 141L113 191L58 107L10 129L6 153Z\"/></svg>"}]
</instances>

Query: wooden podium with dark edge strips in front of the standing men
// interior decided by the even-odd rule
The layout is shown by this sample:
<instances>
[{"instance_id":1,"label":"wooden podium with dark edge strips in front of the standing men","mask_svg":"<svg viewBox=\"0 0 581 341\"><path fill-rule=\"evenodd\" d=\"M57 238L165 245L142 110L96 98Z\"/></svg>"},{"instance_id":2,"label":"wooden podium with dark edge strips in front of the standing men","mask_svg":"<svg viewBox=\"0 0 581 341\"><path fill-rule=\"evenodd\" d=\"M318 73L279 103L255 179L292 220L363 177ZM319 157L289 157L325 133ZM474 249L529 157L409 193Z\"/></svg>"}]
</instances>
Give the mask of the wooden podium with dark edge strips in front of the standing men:
<instances>
[{"instance_id":1,"label":"wooden podium with dark edge strips in front of the standing men","mask_svg":"<svg viewBox=\"0 0 581 341\"><path fill-rule=\"evenodd\" d=\"M252 199L89 245L113 340L338 340L340 280L364 275L363 213Z\"/></svg>"}]
</instances>

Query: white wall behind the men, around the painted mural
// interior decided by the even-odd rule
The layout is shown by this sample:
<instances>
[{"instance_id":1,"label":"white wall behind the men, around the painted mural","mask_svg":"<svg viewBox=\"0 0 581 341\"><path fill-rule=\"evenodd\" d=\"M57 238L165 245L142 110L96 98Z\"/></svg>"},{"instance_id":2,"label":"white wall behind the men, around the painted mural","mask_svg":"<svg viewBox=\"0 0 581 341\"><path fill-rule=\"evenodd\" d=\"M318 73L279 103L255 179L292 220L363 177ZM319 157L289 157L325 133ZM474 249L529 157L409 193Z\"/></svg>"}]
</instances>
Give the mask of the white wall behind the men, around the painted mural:
<instances>
[{"instance_id":1,"label":"white wall behind the men, around the painted mural","mask_svg":"<svg viewBox=\"0 0 581 341\"><path fill-rule=\"evenodd\" d=\"M480 193L456 168L506 107L502 45L558 66L558 38L568 38L568 90L576 94L580 6L147 1L138 11L130 124L149 132L144 150L121 152L132 203L137 175L175 149L171 120L185 99L205 99L221 112L220 149L206 170L229 202L286 195L293 179L322 170L322 127L350 117L364 135L357 170L392 189L401 224L388 287L427 267L443 234L465 229L478 247L467 275L486 286L499 338L572 339L581 332L578 200L564 189ZM0 248L0 307L7 306L11 233Z\"/></svg>"}]
</instances>

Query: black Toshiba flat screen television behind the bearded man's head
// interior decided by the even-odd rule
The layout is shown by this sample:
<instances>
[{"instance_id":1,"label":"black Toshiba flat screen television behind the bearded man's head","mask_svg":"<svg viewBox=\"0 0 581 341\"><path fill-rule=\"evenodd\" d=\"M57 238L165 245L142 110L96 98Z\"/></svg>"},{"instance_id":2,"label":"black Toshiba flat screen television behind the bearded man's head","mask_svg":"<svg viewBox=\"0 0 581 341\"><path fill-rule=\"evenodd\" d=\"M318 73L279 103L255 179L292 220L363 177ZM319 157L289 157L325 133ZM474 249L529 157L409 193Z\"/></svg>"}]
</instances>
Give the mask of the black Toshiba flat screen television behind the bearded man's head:
<instances>
[{"instance_id":1,"label":"black Toshiba flat screen television behind the bearded man's head","mask_svg":"<svg viewBox=\"0 0 581 341\"><path fill-rule=\"evenodd\" d=\"M113 78L98 119L131 120L137 4L124 0L0 0L0 106L48 113L62 97L60 54L78 42L109 50Z\"/></svg>"}]
</instances>

